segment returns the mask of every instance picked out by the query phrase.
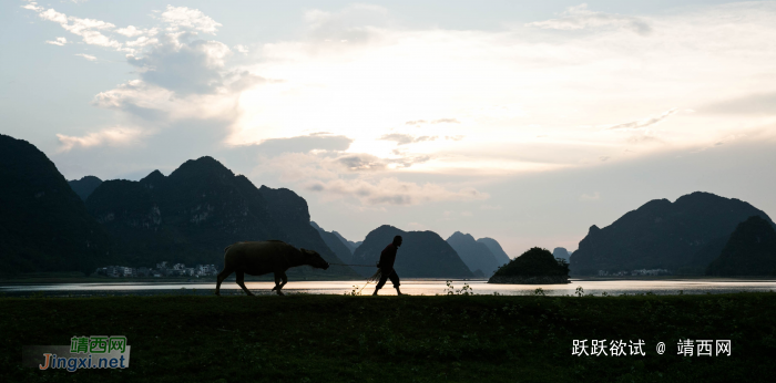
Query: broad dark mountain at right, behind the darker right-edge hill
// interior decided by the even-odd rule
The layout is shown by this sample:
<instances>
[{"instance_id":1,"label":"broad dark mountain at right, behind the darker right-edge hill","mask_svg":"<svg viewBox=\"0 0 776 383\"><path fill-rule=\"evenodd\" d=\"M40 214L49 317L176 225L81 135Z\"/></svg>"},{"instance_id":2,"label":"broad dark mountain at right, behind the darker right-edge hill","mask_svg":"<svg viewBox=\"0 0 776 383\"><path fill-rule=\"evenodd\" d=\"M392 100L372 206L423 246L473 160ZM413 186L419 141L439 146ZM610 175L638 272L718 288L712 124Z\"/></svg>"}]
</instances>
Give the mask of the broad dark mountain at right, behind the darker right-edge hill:
<instances>
[{"instance_id":1,"label":"broad dark mountain at right, behind the darker right-edge hill","mask_svg":"<svg viewBox=\"0 0 776 383\"><path fill-rule=\"evenodd\" d=\"M667 269L703 273L704 262L715 257L713 250L751 216L773 225L754 206L711 193L696 192L674 203L654 199L603 229L593 225L571 256L571 272Z\"/></svg>"}]
</instances>

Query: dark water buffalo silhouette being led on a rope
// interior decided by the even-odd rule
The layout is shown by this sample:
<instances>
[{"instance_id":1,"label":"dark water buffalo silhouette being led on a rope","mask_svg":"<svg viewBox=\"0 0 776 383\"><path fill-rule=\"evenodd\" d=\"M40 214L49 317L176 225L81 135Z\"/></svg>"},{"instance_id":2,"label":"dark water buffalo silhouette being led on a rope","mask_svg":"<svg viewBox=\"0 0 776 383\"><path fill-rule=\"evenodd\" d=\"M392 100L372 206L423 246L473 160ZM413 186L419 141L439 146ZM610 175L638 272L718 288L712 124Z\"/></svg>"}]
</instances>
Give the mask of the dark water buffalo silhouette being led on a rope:
<instances>
[{"instance_id":1,"label":"dark water buffalo silhouette being led on a rope","mask_svg":"<svg viewBox=\"0 0 776 383\"><path fill-rule=\"evenodd\" d=\"M224 270L218 273L215 294L221 296L221 282L232 272L237 272L237 284L248 296L253 296L253 292L245 287L246 273L249 276L262 276L274 272L275 287L273 291L277 291L278 296L283 296L280 289L288 281L286 270L302 265L309 265L324 270L329 268L329 263L316 251L297 250L297 248L280 240L229 245L224 249Z\"/></svg>"}]
</instances>

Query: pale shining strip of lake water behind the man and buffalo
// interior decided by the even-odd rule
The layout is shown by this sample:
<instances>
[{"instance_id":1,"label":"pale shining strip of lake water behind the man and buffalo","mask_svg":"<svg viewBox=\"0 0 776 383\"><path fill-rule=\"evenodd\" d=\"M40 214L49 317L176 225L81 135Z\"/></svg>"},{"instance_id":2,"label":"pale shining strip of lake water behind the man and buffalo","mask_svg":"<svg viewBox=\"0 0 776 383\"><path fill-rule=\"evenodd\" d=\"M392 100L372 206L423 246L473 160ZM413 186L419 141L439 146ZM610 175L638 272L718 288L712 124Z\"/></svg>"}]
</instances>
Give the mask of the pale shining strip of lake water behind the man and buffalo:
<instances>
[{"instance_id":1,"label":"pale shining strip of lake water behind the man and buffalo","mask_svg":"<svg viewBox=\"0 0 776 383\"><path fill-rule=\"evenodd\" d=\"M345 294L354 288L359 290L366 281L289 281L283 289L286 293ZM585 294L611 296L652 292L655 294L701 294L742 291L776 291L776 280L748 279L671 279L671 280L578 280L570 284L489 284L483 280L453 280L455 290L468 283L476 294L525 296L541 288L548 296L573 296L578 287ZM245 282L255 294L269 294L274 282ZM363 294L371 294L375 284L368 284ZM154 296L154 294L213 294L215 282L109 282L109 283L49 283L49 284L0 284L0 294L6 297L93 297L93 296ZM222 294L243 294L232 281L221 286ZM445 280L402 280L401 291L412 296L446 294ZM394 296L396 290L390 282L380 290L381 296Z\"/></svg>"}]
</instances>

